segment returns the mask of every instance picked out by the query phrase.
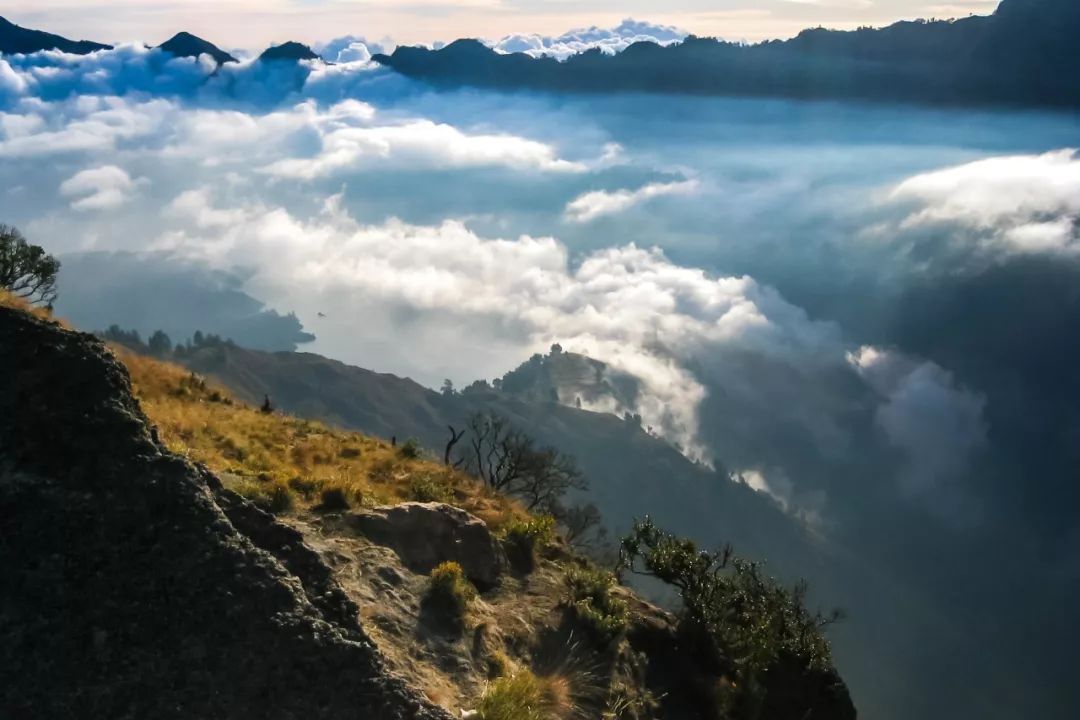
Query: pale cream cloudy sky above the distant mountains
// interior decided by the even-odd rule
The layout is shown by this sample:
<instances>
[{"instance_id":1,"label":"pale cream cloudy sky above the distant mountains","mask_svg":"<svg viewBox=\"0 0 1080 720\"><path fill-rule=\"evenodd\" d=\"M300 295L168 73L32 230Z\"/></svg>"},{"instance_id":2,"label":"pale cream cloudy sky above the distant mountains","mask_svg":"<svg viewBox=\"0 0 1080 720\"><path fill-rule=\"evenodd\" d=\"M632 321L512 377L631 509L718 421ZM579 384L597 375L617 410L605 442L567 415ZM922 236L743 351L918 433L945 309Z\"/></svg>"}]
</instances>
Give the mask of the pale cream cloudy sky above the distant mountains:
<instances>
[{"instance_id":1,"label":"pale cream cloudy sky above the distant mountains","mask_svg":"<svg viewBox=\"0 0 1080 720\"><path fill-rule=\"evenodd\" d=\"M347 33L431 42L511 32L558 33L624 17L731 40L787 37L902 18L993 12L998 0L9 0L0 14L98 41L156 43L187 29L226 47L314 42Z\"/></svg>"}]
</instances>

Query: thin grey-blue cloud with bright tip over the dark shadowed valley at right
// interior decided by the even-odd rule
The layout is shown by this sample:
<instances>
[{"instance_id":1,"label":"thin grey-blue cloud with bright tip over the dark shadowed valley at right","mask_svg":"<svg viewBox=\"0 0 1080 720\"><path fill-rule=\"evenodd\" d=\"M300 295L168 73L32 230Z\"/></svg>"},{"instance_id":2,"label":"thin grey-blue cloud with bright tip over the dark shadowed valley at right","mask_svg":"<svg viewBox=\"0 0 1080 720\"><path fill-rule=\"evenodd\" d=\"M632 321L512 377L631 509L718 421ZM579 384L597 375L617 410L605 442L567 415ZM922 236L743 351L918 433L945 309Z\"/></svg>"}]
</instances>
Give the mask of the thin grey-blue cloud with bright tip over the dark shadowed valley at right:
<instances>
[{"instance_id":1,"label":"thin grey-blue cloud with bright tip over the dark shadowed valley at right","mask_svg":"<svg viewBox=\"0 0 1080 720\"><path fill-rule=\"evenodd\" d=\"M881 398L875 421L906 454L905 490L948 495L986 445L985 398L934 363L894 351L865 345L848 362Z\"/></svg>"}]
</instances>

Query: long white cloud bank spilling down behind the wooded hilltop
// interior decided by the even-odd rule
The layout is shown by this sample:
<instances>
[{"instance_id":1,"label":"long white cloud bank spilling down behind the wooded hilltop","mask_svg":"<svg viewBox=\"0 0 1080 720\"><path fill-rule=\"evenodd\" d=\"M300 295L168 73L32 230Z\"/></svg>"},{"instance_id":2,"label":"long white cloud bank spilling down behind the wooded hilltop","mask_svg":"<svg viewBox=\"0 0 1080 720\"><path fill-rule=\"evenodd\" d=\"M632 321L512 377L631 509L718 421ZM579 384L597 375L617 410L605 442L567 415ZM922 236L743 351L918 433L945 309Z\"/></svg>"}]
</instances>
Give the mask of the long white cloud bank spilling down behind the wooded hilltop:
<instances>
[{"instance_id":1,"label":"long white cloud bank spilling down behind the wooded hilltop","mask_svg":"<svg viewBox=\"0 0 1080 720\"><path fill-rule=\"evenodd\" d=\"M340 198L310 220L261 205L212 208L207 198L173 203L173 213L213 228L176 243L184 252L255 267L249 282L272 297L318 287L354 308L483 321L489 332L521 335L526 348L563 342L637 378L638 405L627 409L692 457L706 457L698 411L707 391L687 358L724 347L812 357L808 347L820 341L814 323L774 290L679 267L657 248L610 247L571 263L552 237L485 239L458 221L362 225Z\"/></svg>"}]
</instances>

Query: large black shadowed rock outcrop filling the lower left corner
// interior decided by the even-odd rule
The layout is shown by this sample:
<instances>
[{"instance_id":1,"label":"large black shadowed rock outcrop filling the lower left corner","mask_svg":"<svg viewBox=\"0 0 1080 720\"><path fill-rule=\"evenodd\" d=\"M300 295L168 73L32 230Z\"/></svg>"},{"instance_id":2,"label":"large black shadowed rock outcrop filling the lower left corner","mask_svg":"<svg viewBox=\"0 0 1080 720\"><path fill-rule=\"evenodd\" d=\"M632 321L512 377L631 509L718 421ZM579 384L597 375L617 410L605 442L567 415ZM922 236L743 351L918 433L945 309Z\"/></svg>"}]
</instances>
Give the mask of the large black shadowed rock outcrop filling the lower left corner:
<instances>
[{"instance_id":1,"label":"large black shadowed rock outcrop filling the lower left corner","mask_svg":"<svg viewBox=\"0 0 1080 720\"><path fill-rule=\"evenodd\" d=\"M0 717L446 720L300 535L156 443L91 336L0 308Z\"/></svg>"}]
</instances>

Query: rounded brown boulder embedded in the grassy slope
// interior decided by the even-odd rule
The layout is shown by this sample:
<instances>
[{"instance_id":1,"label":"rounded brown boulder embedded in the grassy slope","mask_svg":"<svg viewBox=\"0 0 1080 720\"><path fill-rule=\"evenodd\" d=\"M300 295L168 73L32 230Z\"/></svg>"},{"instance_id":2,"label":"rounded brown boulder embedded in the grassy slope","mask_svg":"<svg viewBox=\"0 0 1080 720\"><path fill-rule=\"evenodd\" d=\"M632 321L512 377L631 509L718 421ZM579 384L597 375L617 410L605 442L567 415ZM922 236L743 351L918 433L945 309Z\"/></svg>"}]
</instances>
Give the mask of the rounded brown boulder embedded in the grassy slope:
<instances>
[{"instance_id":1,"label":"rounded brown boulder embedded in the grassy slope","mask_svg":"<svg viewBox=\"0 0 1080 720\"><path fill-rule=\"evenodd\" d=\"M484 520L444 503L402 503L354 513L356 532L392 548L414 572L454 560L477 587L498 582L505 560Z\"/></svg>"}]
</instances>

